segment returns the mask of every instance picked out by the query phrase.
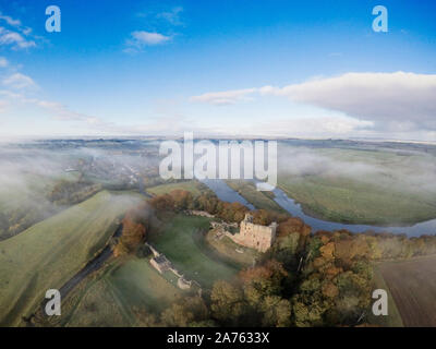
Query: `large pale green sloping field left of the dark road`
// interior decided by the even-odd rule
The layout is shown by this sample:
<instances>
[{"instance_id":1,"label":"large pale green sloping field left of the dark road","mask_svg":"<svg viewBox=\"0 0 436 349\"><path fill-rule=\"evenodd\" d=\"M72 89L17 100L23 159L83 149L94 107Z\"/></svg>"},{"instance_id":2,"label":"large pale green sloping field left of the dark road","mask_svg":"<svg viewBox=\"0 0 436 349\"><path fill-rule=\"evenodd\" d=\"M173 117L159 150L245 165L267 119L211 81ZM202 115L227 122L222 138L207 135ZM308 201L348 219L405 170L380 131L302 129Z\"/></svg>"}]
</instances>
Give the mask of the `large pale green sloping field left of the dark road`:
<instances>
[{"instance_id":1,"label":"large pale green sloping field left of the dark road","mask_svg":"<svg viewBox=\"0 0 436 349\"><path fill-rule=\"evenodd\" d=\"M0 325L16 326L108 242L138 195L100 192L0 242Z\"/></svg>"}]
</instances>

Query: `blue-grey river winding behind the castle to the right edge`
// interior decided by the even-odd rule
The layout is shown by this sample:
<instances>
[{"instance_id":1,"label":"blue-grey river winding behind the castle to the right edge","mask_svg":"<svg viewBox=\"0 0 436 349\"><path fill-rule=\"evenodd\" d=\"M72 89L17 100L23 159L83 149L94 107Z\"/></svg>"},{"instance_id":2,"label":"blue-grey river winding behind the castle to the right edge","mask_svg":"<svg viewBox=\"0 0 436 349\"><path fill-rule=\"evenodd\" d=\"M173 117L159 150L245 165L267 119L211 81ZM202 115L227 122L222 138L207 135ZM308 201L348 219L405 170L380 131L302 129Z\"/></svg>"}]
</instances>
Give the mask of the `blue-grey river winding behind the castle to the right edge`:
<instances>
[{"instance_id":1,"label":"blue-grey river winding behind the castle to the right edge","mask_svg":"<svg viewBox=\"0 0 436 349\"><path fill-rule=\"evenodd\" d=\"M238 192L232 190L222 180L204 180L202 181L210 190L213 190L218 198L226 202L239 202L250 209L254 209L254 206L250 204L244 197L242 197ZM413 226L403 227L379 227L371 225L352 225L352 224L341 224L336 221L328 221L318 218L311 217L306 215L301 205L295 203L295 201L289 197L281 189L276 188L272 190L276 195L275 202L280 205L283 209L289 212L294 217L300 217L305 224L310 225L313 231L317 230L340 230L347 229L352 232L364 232L364 231L376 231L376 232L392 232L392 233L405 233L408 237L419 237L422 234L435 234L436 233L436 219L422 221Z\"/></svg>"}]
</instances>

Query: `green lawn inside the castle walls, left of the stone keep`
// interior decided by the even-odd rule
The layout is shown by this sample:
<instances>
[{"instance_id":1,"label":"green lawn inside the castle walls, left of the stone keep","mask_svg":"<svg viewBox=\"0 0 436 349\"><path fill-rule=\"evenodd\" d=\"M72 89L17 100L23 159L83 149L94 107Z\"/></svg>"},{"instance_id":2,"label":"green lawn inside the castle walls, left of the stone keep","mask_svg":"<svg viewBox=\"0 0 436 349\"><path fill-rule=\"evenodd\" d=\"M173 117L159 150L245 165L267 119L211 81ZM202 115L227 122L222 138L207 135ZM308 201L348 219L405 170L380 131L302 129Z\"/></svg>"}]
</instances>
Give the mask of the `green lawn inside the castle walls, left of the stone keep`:
<instances>
[{"instance_id":1,"label":"green lawn inside the castle walls, left of the stone keep","mask_svg":"<svg viewBox=\"0 0 436 349\"><path fill-rule=\"evenodd\" d=\"M208 253L202 233L208 227L208 218L175 215L165 222L159 233L150 236L149 242L181 273L202 287L211 288L217 279L232 278L238 268Z\"/></svg>"}]
</instances>

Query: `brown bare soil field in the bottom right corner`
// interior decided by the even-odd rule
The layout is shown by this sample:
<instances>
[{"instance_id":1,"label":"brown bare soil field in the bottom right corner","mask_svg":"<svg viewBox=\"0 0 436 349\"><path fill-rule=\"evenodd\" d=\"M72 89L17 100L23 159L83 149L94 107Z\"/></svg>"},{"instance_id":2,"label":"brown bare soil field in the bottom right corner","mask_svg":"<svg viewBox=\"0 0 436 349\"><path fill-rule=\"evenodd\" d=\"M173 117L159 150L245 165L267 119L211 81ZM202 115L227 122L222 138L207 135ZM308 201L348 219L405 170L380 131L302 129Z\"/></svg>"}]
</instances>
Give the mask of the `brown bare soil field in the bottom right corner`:
<instances>
[{"instance_id":1,"label":"brown bare soil field in the bottom right corner","mask_svg":"<svg viewBox=\"0 0 436 349\"><path fill-rule=\"evenodd\" d=\"M436 327L436 256L379 264L405 327Z\"/></svg>"}]
</instances>

